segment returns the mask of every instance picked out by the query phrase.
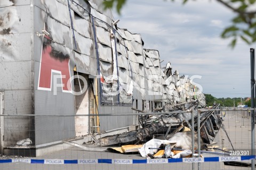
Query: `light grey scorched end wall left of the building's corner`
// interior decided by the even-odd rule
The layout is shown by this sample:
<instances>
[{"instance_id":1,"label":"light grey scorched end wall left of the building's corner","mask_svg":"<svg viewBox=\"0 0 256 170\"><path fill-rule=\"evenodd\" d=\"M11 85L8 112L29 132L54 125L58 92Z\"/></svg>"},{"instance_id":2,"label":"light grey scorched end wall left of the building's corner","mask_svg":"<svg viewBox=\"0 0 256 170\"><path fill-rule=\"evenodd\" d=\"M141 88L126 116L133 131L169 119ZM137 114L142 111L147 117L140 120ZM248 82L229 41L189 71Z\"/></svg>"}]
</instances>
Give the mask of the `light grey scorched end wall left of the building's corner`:
<instances>
[{"instance_id":1,"label":"light grey scorched end wall left of the building's corner","mask_svg":"<svg viewBox=\"0 0 256 170\"><path fill-rule=\"evenodd\" d=\"M0 90L4 113L34 114L33 10L29 1L0 2ZM4 146L34 140L34 118L4 117Z\"/></svg>"}]
</instances>

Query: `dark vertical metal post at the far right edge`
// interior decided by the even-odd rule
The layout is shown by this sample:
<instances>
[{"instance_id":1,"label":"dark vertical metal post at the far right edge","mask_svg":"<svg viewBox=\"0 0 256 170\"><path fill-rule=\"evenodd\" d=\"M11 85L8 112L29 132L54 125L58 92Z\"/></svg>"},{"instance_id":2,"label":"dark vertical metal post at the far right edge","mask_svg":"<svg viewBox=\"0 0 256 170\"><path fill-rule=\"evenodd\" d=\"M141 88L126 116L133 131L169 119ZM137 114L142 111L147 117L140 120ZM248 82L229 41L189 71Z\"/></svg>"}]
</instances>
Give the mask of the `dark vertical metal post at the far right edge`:
<instances>
[{"instance_id":1,"label":"dark vertical metal post at the far right edge","mask_svg":"<svg viewBox=\"0 0 256 170\"><path fill-rule=\"evenodd\" d=\"M251 107L255 108L255 79L254 79L254 48L250 48L251 54ZM252 155L255 155L255 131L254 131L254 123L255 123L255 116L254 116L254 109L251 112L251 138L252 138ZM252 166L251 168L255 169L255 159L252 159Z\"/></svg>"}]
</instances>

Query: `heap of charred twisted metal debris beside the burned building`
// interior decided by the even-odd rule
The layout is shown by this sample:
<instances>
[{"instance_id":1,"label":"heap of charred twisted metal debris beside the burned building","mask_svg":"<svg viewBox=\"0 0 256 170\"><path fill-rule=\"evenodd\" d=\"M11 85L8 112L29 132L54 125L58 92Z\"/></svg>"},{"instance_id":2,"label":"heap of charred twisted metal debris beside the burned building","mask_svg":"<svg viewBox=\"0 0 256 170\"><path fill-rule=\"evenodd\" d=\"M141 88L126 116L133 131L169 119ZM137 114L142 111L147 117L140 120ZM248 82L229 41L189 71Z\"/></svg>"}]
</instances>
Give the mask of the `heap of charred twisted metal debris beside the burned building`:
<instances>
[{"instance_id":1,"label":"heap of charred twisted metal debris beside the burned building","mask_svg":"<svg viewBox=\"0 0 256 170\"><path fill-rule=\"evenodd\" d=\"M194 114L195 132L197 128L200 128L202 143L209 144L217 135L222 124L222 119L219 111L205 110L199 114L201 123L200 126L198 126L196 121L197 113L189 112L191 109L198 107L198 105L198 101L169 105L165 109L175 111L174 113L141 115L139 130L100 138L100 145L138 145L140 143L149 142L153 138L157 138L165 140L163 141L165 144L175 143L176 147L191 150L191 114ZM219 107L220 105L214 105L212 108L217 109ZM195 134L195 140L196 139L197 135ZM197 146L195 147L197 148Z\"/></svg>"}]
</instances>

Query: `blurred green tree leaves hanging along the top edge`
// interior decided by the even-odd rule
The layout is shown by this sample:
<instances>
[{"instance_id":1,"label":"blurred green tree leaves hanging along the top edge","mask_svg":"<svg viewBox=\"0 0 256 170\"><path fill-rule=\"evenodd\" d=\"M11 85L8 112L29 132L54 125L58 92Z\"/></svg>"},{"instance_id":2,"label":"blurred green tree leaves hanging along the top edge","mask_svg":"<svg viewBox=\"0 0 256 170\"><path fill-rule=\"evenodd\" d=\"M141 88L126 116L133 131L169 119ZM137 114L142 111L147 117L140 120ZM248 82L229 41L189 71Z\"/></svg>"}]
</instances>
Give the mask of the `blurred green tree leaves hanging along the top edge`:
<instances>
[{"instance_id":1,"label":"blurred green tree leaves hanging along the top edge","mask_svg":"<svg viewBox=\"0 0 256 170\"><path fill-rule=\"evenodd\" d=\"M87 0L84 0L87 1ZM171 0L175 1L175 0ZM183 0L186 4L189 0ZM190 0L191 1L191 0ZM232 24L225 28L222 33L222 38L230 38L230 46L235 47L237 39L242 39L247 44L256 42L256 10L252 6L256 5L256 0L215 0L220 4L226 6L228 10L233 11L236 15L231 20ZM107 0L103 2L106 8L116 7L120 14L121 9L126 3L126 0ZM210 4L209 4L209 7Z\"/></svg>"}]
</instances>

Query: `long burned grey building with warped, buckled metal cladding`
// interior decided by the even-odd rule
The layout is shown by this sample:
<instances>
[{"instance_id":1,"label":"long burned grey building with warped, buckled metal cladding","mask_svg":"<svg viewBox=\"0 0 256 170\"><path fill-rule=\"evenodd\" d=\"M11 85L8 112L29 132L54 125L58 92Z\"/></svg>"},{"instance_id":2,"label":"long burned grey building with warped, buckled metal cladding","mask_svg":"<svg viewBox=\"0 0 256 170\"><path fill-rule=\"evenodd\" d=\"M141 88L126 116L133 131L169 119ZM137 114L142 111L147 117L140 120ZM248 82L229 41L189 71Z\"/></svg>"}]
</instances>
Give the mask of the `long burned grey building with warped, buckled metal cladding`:
<instances>
[{"instance_id":1,"label":"long burned grey building with warped, buckled metal cladding","mask_svg":"<svg viewBox=\"0 0 256 170\"><path fill-rule=\"evenodd\" d=\"M189 79L170 63L163 70L158 51L115 27L101 3L0 2L1 152L39 155L62 140L138 124L132 107L150 113L194 99L205 105ZM109 113L122 115L99 116ZM17 144L26 139L29 145Z\"/></svg>"}]
</instances>

